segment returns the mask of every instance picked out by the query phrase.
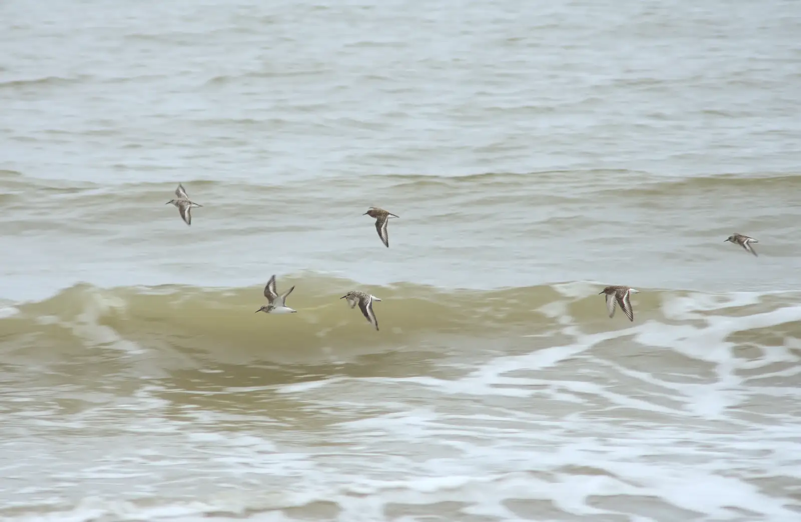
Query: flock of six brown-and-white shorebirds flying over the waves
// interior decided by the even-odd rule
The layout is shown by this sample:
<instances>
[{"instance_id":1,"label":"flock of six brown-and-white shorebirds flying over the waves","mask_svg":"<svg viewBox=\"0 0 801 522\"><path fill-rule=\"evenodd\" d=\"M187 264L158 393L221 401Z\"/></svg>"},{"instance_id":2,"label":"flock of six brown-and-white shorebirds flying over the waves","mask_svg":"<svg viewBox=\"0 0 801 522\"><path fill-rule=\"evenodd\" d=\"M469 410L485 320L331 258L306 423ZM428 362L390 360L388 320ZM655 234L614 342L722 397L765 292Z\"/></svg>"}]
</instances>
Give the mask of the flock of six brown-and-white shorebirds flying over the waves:
<instances>
[{"instance_id":1,"label":"flock of six brown-and-white shorebirds flying over the waves","mask_svg":"<svg viewBox=\"0 0 801 522\"><path fill-rule=\"evenodd\" d=\"M175 189L175 196L176 199L171 199L165 204L168 205L172 203L175 205L175 207L178 207L178 211L183 221L186 222L187 225L191 225L191 209L203 207L203 205L199 205L189 199L186 189L183 188L183 184L179 184L178 188ZM387 223L390 218L397 218L400 216L394 215L391 212L385 211L383 208L379 207L370 207L362 215L368 215L371 218L376 219L376 231L378 232L378 237L380 237L381 242L384 243L384 247L388 248L389 235L387 233ZM751 243L759 243L759 241L754 238L742 234L733 234L730 235L723 243L726 243L727 241L738 244L747 252L757 255L754 247L751 246ZM268 314L295 313L296 310L292 310L292 308L287 306L287 296L291 294L293 290L295 290L294 286L288 291L285 291L283 294L279 295L278 291L276 290L276 276L272 275L270 280L267 282L267 286L264 287L264 297L267 298L268 304L260 307L258 310L256 310L256 313L260 311L267 312ZM623 313L626 314L626 317L633 322L634 308L631 307L631 294L633 293L638 293L638 290L635 290L632 287L613 285L604 288L602 291L598 292L598 295L606 294L606 311L609 312L610 318L614 317L614 311L619 306ZM356 307L356 304L358 304L359 309L364 317L367 318L372 326L376 327L376 330L378 330L378 319L376 319L375 312L372 311L372 303L373 301L380 301L381 299L378 299L375 295L371 295L362 291L349 291L347 294L340 297L340 299L348 299L348 304L351 308Z\"/></svg>"}]
</instances>

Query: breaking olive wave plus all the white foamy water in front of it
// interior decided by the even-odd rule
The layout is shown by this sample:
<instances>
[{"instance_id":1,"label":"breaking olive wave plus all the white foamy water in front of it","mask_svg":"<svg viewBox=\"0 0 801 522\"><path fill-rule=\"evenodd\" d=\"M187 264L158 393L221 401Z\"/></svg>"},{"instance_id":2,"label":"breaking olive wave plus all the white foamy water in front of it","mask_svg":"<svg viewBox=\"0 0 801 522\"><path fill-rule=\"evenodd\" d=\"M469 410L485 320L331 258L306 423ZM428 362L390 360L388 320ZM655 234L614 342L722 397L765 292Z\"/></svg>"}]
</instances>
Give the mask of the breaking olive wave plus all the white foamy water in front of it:
<instances>
[{"instance_id":1,"label":"breaking olive wave plus all the white foamy water in front of it","mask_svg":"<svg viewBox=\"0 0 801 522\"><path fill-rule=\"evenodd\" d=\"M20 401L6 402L15 405L0 430L31 434L17 448L28 458L11 460L8 448L0 461L6 480L27 484L16 489L19 507L6 504L2 514L796 520L799 295L642 289L629 323L606 316L595 288L558 283L484 296L380 288L382 304L405 293L417 300L387 307L384 321L400 328L378 341L363 320L298 295L296 315L317 307L312 324L328 323L325 333L276 322L281 341L256 343L264 322L247 326L251 307L237 303L248 289L80 286L20 304L0 319L12 332L0 347L39 373L2 383ZM192 319L209 299L186 296L201 293L233 327ZM488 298L525 303L538 319L472 308ZM421 306L441 313L417 315ZM196 308L182 315L184 307ZM54 319L35 320L45 311ZM340 321L339 330L330 324ZM141 335L146 329L151 335ZM52 346L48 355L14 349L35 335ZM48 335L70 339L70 350L59 354ZM78 368L70 358L105 395L87 402L85 386L63 376ZM83 442L89 427L110 445ZM36 435L42 430L72 450L59 451ZM61 478L42 483L45 470ZM76 480L93 492L70 494ZM120 496L119 481L133 497Z\"/></svg>"}]
</instances>

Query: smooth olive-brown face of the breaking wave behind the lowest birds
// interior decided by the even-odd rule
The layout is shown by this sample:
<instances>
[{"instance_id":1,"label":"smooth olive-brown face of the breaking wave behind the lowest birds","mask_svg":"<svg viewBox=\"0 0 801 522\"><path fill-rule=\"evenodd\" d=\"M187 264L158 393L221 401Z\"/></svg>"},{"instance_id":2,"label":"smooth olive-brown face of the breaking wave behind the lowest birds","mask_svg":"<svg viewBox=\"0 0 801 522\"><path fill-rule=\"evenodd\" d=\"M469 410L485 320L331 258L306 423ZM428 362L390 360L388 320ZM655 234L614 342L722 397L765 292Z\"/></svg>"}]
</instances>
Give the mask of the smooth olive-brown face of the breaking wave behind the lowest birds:
<instances>
[{"instance_id":1,"label":"smooth olive-brown face of the breaking wave behind the lowest birds","mask_svg":"<svg viewBox=\"0 0 801 522\"><path fill-rule=\"evenodd\" d=\"M586 331L657 331L676 321L694 324L705 318L701 311L678 309L681 303L707 303L710 311L719 312L722 317L736 317L741 309L738 303L767 311L782 303L793 305L801 295L714 295L640 288L641 293L634 299L636 320L629 323L619 311L613 319L606 316L604 297L597 295L603 287L600 283L448 291L413 283L365 287L348 279L305 274L284 277L279 284L279 290L296 286L288 302L300 313L254 314L266 303L262 287L162 285L103 289L82 283L39 302L8 305L0 319L0 330L6 331L3 342L10 347L35 339L35 343L54 351L65 346L117 347L123 351L152 351L158 357L168 345L178 350L206 351L221 362L233 354L281 361L313 359L328 348L341 353L392 350L425 342L423 339L431 336L446 341L449 337L493 339L497 343L512 342L521 334L549 338L566 324ZM383 299L374 304L380 335L358 307L350 309L340 299L351 289L368 291ZM728 301L734 304L727 304ZM751 311L751 315L759 314ZM754 327L745 323L741 326L758 333L757 323ZM733 327L730 333L735 331ZM763 335L764 338L757 335L755 342L775 339L776 334L764 331ZM644 347L662 346L646 339L650 337L642 336L639 341ZM531 342L514 340L524 345Z\"/></svg>"}]
</instances>

